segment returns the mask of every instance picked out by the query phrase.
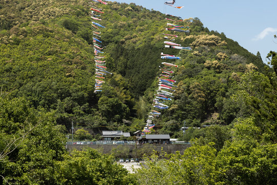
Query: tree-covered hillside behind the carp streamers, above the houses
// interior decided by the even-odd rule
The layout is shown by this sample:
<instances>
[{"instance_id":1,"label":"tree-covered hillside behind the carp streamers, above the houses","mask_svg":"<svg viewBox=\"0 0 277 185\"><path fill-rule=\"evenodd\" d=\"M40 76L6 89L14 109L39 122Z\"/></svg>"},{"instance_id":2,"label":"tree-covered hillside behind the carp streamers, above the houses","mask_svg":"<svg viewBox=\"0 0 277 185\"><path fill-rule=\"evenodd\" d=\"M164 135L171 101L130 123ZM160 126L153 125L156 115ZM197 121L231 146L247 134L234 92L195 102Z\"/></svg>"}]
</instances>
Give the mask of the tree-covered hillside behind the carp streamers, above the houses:
<instances>
[{"instance_id":1,"label":"tree-covered hillside behind the carp streamers, above the houses","mask_svg":"<svg viewBox=\"0 0 277 185\"><path fill-rule=\"evenodd\" d=\"M169 51L161 36L167 21L164 14L135 4L101 8L107 67L114 72L102 94L93 93L87 1L2 1L0 83L11 97L54 110L57 123L68 131L71 120L94 130L140 130L150 110L160 52ZM190 33L176 42L193 51L179 54L176 99L156 123L160 133L176 137L184 120L191 126L231 123L239 111L230 100L235 83L245 72L266 75L271 70L259 53L255 56L224 33L209 31L198 18L182 24L190 26Z\"/></svg>"}]
</instances>

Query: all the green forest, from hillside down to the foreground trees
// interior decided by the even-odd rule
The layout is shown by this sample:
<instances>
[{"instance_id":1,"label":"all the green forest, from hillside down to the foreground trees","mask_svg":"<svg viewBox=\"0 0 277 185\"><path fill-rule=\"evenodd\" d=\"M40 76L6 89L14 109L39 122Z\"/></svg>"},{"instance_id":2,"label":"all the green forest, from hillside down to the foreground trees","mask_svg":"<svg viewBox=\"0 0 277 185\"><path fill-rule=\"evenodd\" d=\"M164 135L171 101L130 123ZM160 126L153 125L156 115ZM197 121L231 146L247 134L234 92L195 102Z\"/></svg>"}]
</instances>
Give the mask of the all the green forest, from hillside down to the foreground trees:
<instances>
[{"instance_id":1,"label":"all the green forest, from hillside down to the foreground trees","mask_svg":"<svg viewBox=\"0 0 277 185\"><path fill-rule=\"evenodd\" d=\"M165 15L135 4L102 8L107 76L94 94L89 2L0 2L0 183L275 184L276 52L270 66L199 18L164 48ZM181 23L180 23L181 24ZM220 26L220 25L219 25ZM90 131L142 130L151 109L160 53L176 62L175 98L155 119L154 134L191 141L184 155L155 153L134 175L95 150L65 151L74 126ZM190 127L186 134L180 131ZM203 125L212 125L202 127ZM202 127L194 129L193 127ZM151 174L151 175L149 175Z\"/></svg>"}]
</instances>

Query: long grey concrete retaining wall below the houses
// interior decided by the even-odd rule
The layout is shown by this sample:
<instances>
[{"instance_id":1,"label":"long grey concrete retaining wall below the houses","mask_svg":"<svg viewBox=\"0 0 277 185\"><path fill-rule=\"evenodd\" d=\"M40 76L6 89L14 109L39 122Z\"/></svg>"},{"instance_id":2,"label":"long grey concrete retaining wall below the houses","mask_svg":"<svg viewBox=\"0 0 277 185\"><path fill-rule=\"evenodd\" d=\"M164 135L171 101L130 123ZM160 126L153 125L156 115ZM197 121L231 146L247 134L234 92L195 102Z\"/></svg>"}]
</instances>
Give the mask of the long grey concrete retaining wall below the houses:
<instances>
[{"instance_id":1,"label":"long grey concrete retaining wall below the houses","mask_svg":"<svg viewBox=\"0 0 277 185\"><path fill-rule=\"evenodd\" d=\"M86 147L91 147L92 149L97 149L103 152L104 154L109 153L113 148L116 148L118 145L116 144L92 144L92 145L66 145L66 149L68 151L71 151L73 149L77 150L83 150ZM124 144L124 147L129 148L130 155L132 155L132 151L134 149L142 149L145 147L145 144ZM147 148L155 150L155 151L161 151L163 147L163 151L167 153L175 153L176 151L180 151L181 154L184 154L184 150L186 150L190 144L150 144L147 145Z\"/></svg>"}]
</instances>

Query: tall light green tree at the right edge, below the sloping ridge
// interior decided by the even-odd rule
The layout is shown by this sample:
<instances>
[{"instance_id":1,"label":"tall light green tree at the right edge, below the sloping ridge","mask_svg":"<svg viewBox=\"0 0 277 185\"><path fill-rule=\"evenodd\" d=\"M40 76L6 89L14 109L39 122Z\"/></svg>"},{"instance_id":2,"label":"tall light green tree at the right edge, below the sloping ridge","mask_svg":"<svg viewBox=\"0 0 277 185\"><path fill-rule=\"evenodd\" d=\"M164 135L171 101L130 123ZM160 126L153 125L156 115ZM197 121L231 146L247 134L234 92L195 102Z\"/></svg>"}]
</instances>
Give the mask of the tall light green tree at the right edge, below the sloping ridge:
<instances>
[{"instance_id":1,"label":"tall light green tree at the right edge, below the sloping ridge","mask_svg":"<svg viewBox=\"0 0 277 185\"><path fill-rule=\"evenodd\" d=\"M276 142L277 95L268 77L250 71L241 77L238 91L231 97L239 107L238 117L252 117L265 142Z\"/></svg>"}]
</instances>

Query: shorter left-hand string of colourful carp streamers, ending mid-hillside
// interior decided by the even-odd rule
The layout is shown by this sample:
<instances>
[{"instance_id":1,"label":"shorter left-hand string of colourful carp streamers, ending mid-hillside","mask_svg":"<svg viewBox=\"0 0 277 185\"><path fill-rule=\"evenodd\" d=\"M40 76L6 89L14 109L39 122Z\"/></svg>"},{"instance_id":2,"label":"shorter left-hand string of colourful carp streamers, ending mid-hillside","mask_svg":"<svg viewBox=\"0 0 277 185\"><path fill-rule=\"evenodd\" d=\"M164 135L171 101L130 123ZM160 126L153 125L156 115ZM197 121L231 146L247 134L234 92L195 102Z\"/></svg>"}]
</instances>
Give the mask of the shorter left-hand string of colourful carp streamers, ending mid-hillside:
<instances>
[{"instance_id":1,"label":"shorter left-hand string of colourful carp streamers, ending mid-hillside","mask_svg":"<svg viewBox=\"0 0 277 185\"><path fill-rule=\"evenodd\" d=\"M103 50L102 41L101 41L101 32L98 31L100 28L105 28L98 21L102 21L101 14L102 9L99 9L96 6L98 3L107 5L107 3L102 0L91 0L90 2L90 18L91 18L91 28L93 30L93 49L94 49L94 62L95 62L95 85L94 93L102 91L102 85L105 83L105 76L108 74L112 75L111 72L107 71L106 61Z\"/></svg>"}]
</instances>

